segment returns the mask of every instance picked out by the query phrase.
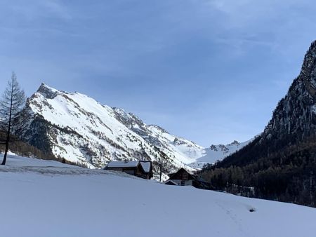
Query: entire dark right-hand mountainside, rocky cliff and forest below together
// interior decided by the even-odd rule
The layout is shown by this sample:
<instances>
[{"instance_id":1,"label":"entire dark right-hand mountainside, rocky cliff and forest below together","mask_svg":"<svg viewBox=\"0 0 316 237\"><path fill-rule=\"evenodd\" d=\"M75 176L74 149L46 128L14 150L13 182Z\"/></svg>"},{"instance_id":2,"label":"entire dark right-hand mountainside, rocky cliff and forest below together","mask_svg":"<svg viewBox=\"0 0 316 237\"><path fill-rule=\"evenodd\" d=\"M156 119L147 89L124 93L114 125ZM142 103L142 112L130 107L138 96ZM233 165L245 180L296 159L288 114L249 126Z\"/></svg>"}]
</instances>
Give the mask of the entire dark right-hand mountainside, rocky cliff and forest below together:
<instances>
[{"instance_id":1,"label":"entire dark right-hand mountainside, rocky cliff and forest below together","mask_svg":"<svg viewBox=\"0 0 316 237\"><path fill-rule=\"evenodd\" d=\"M316 43L261 135L202 170L215 189L316 207Z\"/></svg>"}]
</instances>

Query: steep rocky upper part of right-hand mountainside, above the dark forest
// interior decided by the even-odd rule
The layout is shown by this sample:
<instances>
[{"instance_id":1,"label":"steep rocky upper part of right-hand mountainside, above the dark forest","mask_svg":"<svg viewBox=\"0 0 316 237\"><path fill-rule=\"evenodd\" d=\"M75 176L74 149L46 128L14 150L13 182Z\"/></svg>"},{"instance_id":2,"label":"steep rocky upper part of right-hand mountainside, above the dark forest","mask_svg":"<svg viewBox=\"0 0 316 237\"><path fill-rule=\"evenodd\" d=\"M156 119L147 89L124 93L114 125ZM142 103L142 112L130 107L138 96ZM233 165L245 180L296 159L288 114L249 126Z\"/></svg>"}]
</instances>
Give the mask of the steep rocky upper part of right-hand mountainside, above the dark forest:
<instances>
[{"instance_id":1,"label":"steep rocky upper part of right-hand mountainside, above the dark forest","mask_svg":"<svg viewBox=\"0 0 316 237\"><path fill-rule=\"evenodd\" d=\"M277 104L261 135L219 165L245 165L268 158L316 135L316 41L305 54L301 72Z\"/></svg>"}]
</instances>

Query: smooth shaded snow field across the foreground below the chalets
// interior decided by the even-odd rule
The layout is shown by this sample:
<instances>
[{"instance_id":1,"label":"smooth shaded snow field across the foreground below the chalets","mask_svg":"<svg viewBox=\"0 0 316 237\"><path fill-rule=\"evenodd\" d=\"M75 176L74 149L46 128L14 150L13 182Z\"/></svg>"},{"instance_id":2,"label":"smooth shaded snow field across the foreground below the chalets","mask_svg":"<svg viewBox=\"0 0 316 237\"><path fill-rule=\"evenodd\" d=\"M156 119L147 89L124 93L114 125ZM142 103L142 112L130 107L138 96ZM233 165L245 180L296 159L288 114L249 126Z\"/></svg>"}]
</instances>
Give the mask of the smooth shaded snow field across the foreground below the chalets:
<instances>
[{"instance_id":1,"label":"smooth shaded snow field across the foreground below the chalets","mask_svg":"<svg viewBox=\"0 0 316 237\"><path fill-rule=\"evenodd\" d=\"M0 236L314 237L316 209L9 156ZM250 212L249 210L255 210Z\"/></svg>"}]
</instances>

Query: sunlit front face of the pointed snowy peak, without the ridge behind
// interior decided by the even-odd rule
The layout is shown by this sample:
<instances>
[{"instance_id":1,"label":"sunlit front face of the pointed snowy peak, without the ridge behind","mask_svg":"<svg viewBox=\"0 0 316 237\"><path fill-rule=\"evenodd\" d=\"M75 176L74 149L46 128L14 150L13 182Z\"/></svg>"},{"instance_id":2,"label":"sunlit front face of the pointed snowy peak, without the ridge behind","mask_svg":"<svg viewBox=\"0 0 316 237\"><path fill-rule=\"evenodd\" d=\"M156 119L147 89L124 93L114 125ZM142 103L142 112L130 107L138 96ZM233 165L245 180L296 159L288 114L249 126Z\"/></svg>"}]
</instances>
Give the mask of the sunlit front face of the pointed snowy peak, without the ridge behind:
<instances>
[{"instance_id":1,"label":"sunlit front face of the pointed snowy peak, without the ridge behind","mask_svg":"<svg viewBox=\"0 0 316 237\"><path fill-rule=\"evenodd\" d=\"M49 147L55 157L77 165L102 168L112 160L156 161L166 157L122 122L130 114L119 114L118 109L80 93L42 84L27 100L26 111L31 123L22 137L39 149ZM171 168L185 166L173 156L169 160Z\"/></svg>"}]
</instances>

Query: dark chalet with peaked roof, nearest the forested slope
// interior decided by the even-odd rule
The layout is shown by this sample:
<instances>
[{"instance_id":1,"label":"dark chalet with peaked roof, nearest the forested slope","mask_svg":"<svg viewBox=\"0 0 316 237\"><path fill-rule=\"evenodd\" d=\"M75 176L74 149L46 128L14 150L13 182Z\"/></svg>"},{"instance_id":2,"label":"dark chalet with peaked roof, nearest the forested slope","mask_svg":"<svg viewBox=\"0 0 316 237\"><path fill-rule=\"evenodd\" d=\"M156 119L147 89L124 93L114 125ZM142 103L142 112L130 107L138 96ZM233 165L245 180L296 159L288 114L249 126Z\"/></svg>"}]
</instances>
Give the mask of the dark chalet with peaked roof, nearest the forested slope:
<instances>
[{"instance_id":1,"label":"dark chalet with peaked roof, nearest the forested slope","mask_svg":"<svg viewBox=\"0 0 316 237\"><path fill-rule=\"evenodd\" d=\"M199 189L211 189L210 185L197 175L192 175L184 168L180 168L177 172L168 175L169 180L164 184L178 186L193 186Z\"/></svg>"}]
</instances>

